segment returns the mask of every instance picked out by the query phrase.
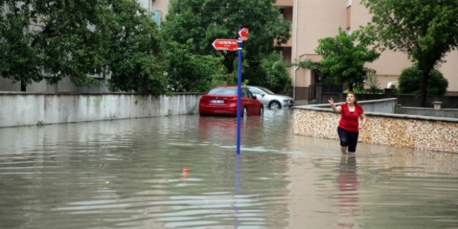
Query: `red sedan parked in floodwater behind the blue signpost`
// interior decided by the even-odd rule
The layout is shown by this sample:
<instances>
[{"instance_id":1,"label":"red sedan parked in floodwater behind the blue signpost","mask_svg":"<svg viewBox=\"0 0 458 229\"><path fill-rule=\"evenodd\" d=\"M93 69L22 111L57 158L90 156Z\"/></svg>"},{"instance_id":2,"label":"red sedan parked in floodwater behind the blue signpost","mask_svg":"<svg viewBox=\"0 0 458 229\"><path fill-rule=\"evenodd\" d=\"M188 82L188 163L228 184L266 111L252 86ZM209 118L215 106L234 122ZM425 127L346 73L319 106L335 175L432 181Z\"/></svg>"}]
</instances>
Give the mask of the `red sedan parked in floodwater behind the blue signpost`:
<instances>
[{"instance_id":1,"label":"red sedan parked in floodwater behind the blue signpost","mask_svg":"<svg viewBox=\"0 0 458 229\"><path fill-rule=\"evenodd\" d=\"M263 115L264 105L246 87L241 87L241 117ZM237 116L237 86L213 87L198 103L201 115Z\"/></svg>"}]
</instances>

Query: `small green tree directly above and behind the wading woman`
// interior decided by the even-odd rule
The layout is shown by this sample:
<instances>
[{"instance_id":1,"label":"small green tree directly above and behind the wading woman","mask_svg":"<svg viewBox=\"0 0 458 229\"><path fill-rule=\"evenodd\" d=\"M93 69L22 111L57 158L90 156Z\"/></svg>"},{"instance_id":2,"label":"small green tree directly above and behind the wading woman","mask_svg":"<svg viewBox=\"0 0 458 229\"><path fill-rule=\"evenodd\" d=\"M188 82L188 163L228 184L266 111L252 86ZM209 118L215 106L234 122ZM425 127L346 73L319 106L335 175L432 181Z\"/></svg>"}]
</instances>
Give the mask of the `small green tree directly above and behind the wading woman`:
<instances>
[{"instance_id":1,"label":"small green tree directly above and behind the wading woman","mask_svg":"<svg viewBox=\"0 0 458 229\"><path fill-rule=\"evenodd\" d=\"M319 63L321 72L330 74L337 84L346 84L350 92L353 91L354 85L362 89L366 76L375 74L375 70L364 67L364 64L377 60L380 53L375 51L375 48L368 49L371 39L360 31L348 35L339 28L337 36L325 37L318 42L315 51L323 56Z\"/></svg>"}]
</instances>

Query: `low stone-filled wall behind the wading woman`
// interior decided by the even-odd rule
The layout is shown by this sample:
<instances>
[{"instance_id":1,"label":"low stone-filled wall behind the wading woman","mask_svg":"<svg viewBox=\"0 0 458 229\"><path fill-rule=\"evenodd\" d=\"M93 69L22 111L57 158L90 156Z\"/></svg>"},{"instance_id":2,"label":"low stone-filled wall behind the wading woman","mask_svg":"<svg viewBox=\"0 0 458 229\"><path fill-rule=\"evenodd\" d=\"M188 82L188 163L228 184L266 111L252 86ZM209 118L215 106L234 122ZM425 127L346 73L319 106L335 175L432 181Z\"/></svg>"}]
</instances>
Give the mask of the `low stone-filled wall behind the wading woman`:
<instances>
[{"instance_id":1,"label":"low stone-filled wall behind the wading woman","mask_svg":"<svg viewBox=\"0 0 458 229\"><path fill-rule=\"evenodd\" d=\"M359 142L458 153L458 121L378 116L366 113ZM294 135L338 139L340 114L323 110L294 110Z\"/></svg>"}]
</instances>

